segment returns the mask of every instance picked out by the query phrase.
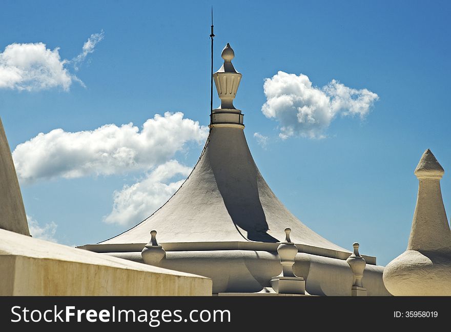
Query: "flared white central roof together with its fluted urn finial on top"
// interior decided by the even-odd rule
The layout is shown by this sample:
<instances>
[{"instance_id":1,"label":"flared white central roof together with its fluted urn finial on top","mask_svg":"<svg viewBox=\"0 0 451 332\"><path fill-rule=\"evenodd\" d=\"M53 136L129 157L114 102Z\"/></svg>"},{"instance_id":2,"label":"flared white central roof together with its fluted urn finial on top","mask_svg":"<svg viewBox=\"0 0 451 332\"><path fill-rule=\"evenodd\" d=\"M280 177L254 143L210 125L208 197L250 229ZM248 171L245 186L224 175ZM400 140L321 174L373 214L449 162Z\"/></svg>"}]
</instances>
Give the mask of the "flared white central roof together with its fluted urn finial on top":
<instances>
[{"instance_id":1,"label":"flared white central roof together with its fluted urn finial on top","mask_svg":"<svg viewBox=\"0 0 451 332\"><path fill-rule=\"evenodd\" d=\"M221 54L224 65L213 74L221 107L212 111L209 138L189 178L149 218L112 239L86 247L140 251L155 229L158 241L173 250L275 250L269 244L284 241L284 229L290 227L291 240L301 250L349 256L348 250L322 238L293 216L261 176L244 136L243 114L232 102L241 79L231 62L234 54L227 44Z\"/></svg>"}]
</instances>

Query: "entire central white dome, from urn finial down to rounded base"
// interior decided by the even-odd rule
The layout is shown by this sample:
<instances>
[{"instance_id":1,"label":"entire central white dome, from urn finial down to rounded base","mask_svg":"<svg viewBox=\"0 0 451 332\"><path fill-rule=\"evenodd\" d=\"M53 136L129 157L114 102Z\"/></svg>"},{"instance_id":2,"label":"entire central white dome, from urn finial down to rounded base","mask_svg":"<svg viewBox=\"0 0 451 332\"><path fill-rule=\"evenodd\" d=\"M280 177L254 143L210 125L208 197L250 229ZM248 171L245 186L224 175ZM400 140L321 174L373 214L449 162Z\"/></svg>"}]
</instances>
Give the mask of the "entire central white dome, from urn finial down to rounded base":
<instances>
[{"instance_id":1,"label":"entire central white dome, from urn finial down to rounded base","mask_svg":"<svg viewBox=\"0 0 451 332\"><path fill-rule=\"evenodd\" d=\"M146 220L83 248L142 262L141 250L150 240L150 231L156 230L166 251L158 266L212 278L215 294L252 293L270 287L271 279L280 274L276 250L290 228L291 242L299 251L294 271L306 280L308 292L351 295L353 273L345 261L351 252L293 216L252 158L241 111L232 103L241 77L230 62L232 52L229 45L223 50L224 65L215 73L221 107L212 110L209 138L185 183L156 212L149 211ZM375 257L367 257L367 263L376 264ZM368 295L388 295L382 270L375 265L365 269Z\"/></svg>"}]
</instances>

